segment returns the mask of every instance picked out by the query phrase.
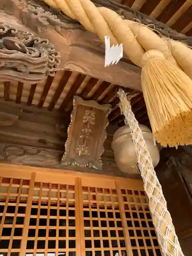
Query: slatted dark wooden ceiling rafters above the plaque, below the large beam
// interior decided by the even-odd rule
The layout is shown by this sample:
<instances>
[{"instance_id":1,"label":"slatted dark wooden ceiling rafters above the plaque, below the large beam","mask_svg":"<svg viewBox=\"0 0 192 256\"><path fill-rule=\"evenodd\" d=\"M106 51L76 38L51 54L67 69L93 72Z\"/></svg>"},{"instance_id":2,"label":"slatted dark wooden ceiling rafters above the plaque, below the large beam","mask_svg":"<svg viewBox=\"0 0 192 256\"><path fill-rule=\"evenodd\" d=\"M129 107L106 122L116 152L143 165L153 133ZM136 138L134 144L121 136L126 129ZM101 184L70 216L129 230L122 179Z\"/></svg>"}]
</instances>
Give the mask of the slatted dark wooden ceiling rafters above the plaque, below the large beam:
<instances>
[{"instance_id":1,"label":"slatted dark wooden ceiling rafters above the plaque, below the large beam","mask_svg":"<svg viewBox=\"0 0 192 256\"><path fill-rule=\"evenodd\" d=\"M123 125L123 116L119 110L119 99L116 84L71 71L58 71L54 77L48 77L37 84L17 81L0 83L0 96L6 101L26 102L43 106L48 111L58 110L70 116L73 107L73 96L78 95L85 100L96 100L100 104L110 103L112 112L109 115L111 124ZM131 89L126 92L134 93ZM149 125L142 93L132 99L133 111L139 122Z\"/></svg>"}]
</instances>

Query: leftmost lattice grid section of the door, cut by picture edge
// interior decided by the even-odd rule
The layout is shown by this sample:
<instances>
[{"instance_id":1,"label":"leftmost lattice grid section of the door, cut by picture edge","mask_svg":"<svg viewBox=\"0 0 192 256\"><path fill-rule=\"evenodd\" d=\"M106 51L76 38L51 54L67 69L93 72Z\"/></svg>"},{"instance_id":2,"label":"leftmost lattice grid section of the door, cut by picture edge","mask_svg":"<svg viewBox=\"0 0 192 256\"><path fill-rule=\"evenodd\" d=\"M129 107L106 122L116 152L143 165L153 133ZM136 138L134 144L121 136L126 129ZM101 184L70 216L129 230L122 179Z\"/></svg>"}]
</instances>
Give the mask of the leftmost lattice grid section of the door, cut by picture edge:
<instances>
[{"instance_id":1,"label":"leftmost lattice grid section of the door, cut by picture edge","mask_svg":"<svg viewBox=\"0 0 192 256\"><path fill-rule=\"evenodd\" d=\"M0 254L16 256L22 241L29 180L1 177L0 184Z\"/></svg>"}]
</instances>

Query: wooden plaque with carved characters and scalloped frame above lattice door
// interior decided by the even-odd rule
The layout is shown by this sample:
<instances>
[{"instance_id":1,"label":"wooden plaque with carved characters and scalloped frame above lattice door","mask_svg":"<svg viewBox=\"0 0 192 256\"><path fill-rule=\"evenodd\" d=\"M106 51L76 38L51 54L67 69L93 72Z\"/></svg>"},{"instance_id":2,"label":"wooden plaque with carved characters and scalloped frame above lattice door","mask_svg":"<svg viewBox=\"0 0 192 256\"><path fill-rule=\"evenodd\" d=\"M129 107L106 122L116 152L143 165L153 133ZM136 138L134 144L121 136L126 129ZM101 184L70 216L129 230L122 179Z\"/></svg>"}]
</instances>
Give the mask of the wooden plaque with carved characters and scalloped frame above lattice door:
<instances>
[{"instance_id":1,"label":"wooden plaque with carved characters and scalloped frame above lattice door","mask_svg":"<svg viewBox=\"0 0 192 256\"><path fill-rule=\"evenodd\" d=\"M96 101L84 101L75 96L73 106L61 163L101 169L105 129L111 105L99 105Z\"/></svg>"}]
</instances>

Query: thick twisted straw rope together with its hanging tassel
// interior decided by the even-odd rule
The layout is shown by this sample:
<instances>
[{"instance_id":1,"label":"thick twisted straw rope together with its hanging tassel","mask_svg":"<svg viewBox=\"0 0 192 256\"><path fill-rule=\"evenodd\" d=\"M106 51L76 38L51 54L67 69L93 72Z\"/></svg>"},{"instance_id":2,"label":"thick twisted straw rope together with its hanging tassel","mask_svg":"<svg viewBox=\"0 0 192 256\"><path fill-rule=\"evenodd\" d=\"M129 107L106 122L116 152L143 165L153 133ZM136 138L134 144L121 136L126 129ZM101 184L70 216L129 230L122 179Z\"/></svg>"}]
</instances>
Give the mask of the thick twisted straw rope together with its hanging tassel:
<instances>
[{"instance_id":1,"label":"thick twisted straw rope together with its hanging tassel","mask_svg":"<svg viewBox=\"0 0 192 256\"><path fill-rule=\"evenodd\" d=\"M190 48L160 37L145 25L123 20L115 11L96 7L90 0L42 1L77 19L103 42L108 35L111 44L122 43L127 56L142 67L142 91L154 137L163 146L192 144Z\"/></svg>"}]
</instances>

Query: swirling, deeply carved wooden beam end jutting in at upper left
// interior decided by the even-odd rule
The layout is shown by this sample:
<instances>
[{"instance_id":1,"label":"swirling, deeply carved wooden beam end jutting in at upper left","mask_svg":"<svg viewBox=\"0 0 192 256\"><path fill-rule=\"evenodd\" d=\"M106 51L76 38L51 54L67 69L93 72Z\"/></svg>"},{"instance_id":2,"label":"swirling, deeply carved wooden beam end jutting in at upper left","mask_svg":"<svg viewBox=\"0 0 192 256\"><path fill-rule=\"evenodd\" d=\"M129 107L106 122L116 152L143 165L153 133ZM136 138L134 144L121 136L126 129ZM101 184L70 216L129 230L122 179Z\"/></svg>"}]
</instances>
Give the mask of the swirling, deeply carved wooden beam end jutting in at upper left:
<instances>
[{"instance_id":1,"label":"swirling, deeply carved wooden beam end jutting in at upper left","mask_svg":"<svg viewBox=\"0 0 192 256\"><path fill-rule=\"evenodd\" d=\"M0 23L0 80L37 83L54 76L60 55L47 39Z\"/></svg>"}]
</instances>

